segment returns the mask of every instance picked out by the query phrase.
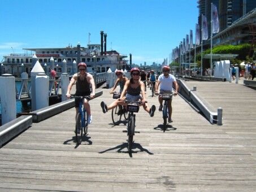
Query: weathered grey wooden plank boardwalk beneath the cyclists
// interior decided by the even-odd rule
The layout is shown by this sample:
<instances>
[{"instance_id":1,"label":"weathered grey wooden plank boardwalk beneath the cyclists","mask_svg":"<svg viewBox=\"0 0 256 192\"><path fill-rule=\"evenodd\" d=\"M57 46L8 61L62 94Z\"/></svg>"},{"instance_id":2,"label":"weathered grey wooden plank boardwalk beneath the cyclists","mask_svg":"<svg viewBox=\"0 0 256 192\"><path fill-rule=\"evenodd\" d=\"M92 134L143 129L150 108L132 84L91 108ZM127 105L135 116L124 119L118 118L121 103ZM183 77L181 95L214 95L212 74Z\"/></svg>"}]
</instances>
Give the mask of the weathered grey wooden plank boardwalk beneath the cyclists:
<instances>
[{"instance_id":1,"label":"weathered grey wooden plank boardwalk beneath the cyclists","mask_svg":"<svg viewBox=\"0 0 256 192\"><path fill-rule=\"evenodd\" d=\"M212 125L181 97L173 98L172 126L162 114L136 115L132 154L126 122L114 126L109 90L90 101L93 123L75 142L75 108L33 123L0 149L0 191L255 191L255 90L229 82L186 82L214 108L223 125ZM147 101L158 109L157 97Z\"/></svg>"}]
</instances>

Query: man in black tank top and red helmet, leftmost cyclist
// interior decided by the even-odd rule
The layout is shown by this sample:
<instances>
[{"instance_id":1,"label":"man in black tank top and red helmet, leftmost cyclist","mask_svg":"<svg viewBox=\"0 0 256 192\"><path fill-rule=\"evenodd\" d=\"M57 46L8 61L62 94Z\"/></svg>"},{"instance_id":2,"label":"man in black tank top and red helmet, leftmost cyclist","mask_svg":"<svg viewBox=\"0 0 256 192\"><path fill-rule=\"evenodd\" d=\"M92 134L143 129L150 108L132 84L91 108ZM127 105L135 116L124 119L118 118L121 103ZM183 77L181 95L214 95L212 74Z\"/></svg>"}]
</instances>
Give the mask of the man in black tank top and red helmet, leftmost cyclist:
<instances>
[{"instance_id":1,"label":"man in black tank top and red helmet, leftmost cyclist","mask_svg":"<svg viewBox=\"0 0 256 192\"><path fill-rule=\"evenodd\" d=\"M85 63L79 63L78 64L79 72L75 73L73 77L70 80L70 84L67 88L67 98L70 98L70 91L76 82L76 93L77 96L86 96L90 95L90 99L93 99L95 96L95 83L93 76L90 75L90 73L86 72L87 66ZM90 92L90 87L92 87L92 93ZM76 114L79 110L79 101L75 99L75 107L76 107ZM87 99L84 99L84 107L86 109L86 112L88 114L88 124L92 123L92 115L90 114L90 105L89 101Z\"/></svg>"}]
</instances>

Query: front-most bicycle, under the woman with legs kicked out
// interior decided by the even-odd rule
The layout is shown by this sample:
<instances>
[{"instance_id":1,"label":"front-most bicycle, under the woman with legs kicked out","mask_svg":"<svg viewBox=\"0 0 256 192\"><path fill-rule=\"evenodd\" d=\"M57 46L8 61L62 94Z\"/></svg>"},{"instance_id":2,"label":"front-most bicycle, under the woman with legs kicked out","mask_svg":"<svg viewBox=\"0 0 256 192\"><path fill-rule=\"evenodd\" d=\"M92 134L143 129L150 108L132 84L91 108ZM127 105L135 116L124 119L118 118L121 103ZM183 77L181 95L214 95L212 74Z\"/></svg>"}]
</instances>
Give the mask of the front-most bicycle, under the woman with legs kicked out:
<instances>
[{"instance_id":1,"label":"front-most bicycle, under the woman with legs kicked out","mask_svg":"<svg viewBox=\"0 0 256 192\"><path fill-rule=\"evenodd\" d=\"M128 125L127 125L127 130L123 130L123 132L127 132L128 136L128 151L132 151L132 143L133 143L133 136L135 133L140 133L135 131L135 114L134 112L138 112L140 109L140 104L142 103L141 101L129 101L127 99L124 100L124 103L127 104L127 111L129 111L128 115Z\"/></svg>"}]
</instances>

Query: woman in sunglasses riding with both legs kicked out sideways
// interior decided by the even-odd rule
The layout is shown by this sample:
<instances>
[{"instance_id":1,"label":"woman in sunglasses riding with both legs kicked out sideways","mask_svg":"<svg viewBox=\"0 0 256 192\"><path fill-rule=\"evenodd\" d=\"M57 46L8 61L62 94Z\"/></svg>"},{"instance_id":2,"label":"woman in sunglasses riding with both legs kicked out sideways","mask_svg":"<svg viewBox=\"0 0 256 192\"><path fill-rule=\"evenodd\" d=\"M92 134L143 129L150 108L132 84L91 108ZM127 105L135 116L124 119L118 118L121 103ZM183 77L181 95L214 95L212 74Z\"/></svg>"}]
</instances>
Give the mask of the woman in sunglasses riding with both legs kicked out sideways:
<instances>
[{"instance_id":1,"label":"woman in sunglasses riding with both legs kicked out sideways","mask_svg":"<svg viewBox=\"0 0 256 192\"><path fill-rule=\"evenodd\" d=\"M124 99L127 99L129 101L140 100L142 102L144 110L147 111L151 117L154 116L155 106L153 105L151 108L149 108L147 103L145 103L145 87L144 83L140 81L140 69L138 68L131 69L131 79L125 82L124 90L122 91L122 94L120 96L120 101L116 99L116 101L112 102L109 106L107 106L105 102L101 102L103 113L106 113L112 108L115 108L118 104L126 106L127 103L124 103Z\"/></svg>"}]
</instances>

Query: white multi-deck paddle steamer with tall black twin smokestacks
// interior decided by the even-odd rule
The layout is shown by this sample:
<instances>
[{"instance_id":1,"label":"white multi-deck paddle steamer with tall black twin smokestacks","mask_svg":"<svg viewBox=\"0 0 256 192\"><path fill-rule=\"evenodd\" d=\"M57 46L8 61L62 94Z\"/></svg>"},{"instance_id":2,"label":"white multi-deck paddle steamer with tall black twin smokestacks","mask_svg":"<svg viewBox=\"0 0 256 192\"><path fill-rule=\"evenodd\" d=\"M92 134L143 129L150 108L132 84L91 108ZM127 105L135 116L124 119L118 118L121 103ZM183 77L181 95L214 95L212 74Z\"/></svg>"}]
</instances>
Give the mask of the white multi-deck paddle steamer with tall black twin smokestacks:
<instances>
[{"instance_id":1,"label":"white multi-deck paddle steamer with tall black twin smokestacks","mask_svg":"<svg viewBox=\"0 0 256 192\"><path fill-rule=\"evenodd\" d=\"M40 62L41 66L48 73L51 71L51 58L54 59L54 70L57 71L57 74L65 72L63 71L63 62L67 63L67 67L64 70L67 70L66 72L70 75L77 72L76 66L80 62L86 63L88 72L94 72L95 58L97 73L107 72L109 68L113 72L116 69L126 69L128 60L125 60L125 58L127 58L127 55L122 55L115 50L107 51L107 34L103 33L103 31L100 34L101 44L88 44L87 47L83 47L80 43L77 43L76 47L68 45L64 48L24 48L24 54L6 55L2 62L2 73L10 73L16 77L20 77L22 72L27 72L30 76L33 67L32 57L34 55L36 55L38 62ZM23 66L21 67L22 64Z\"/></svg>"}]
</instances>

